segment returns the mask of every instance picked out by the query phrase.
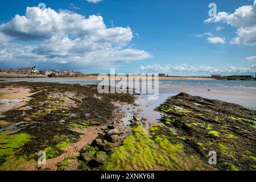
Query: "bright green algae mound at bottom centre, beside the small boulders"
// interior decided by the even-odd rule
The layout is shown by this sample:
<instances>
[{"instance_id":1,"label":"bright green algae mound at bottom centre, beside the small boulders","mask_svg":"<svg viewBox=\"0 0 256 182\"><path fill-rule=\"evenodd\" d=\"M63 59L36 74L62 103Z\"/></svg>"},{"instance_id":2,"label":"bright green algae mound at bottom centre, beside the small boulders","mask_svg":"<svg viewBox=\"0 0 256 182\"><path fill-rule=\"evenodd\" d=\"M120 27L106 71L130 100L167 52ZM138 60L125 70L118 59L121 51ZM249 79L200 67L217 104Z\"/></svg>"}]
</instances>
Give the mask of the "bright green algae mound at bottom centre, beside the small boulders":
<instances>
[{"instance_id":1,"label":"bright green algae mound at bottom centre, beside the small boulders","mask_svg":"<svg viewBox=\"0 0 256 182\"><path fill-rule=\"evenodd\" d=\"M156 126L157 127L157 126ZM158 131L151 127L152 131ZM142 126L132 129L133 134L114 149L103 170L200 170L213 169L199 158L183 153L181 142L172 144L164 135L151 139Z\"/></svg>"}]
</instances>

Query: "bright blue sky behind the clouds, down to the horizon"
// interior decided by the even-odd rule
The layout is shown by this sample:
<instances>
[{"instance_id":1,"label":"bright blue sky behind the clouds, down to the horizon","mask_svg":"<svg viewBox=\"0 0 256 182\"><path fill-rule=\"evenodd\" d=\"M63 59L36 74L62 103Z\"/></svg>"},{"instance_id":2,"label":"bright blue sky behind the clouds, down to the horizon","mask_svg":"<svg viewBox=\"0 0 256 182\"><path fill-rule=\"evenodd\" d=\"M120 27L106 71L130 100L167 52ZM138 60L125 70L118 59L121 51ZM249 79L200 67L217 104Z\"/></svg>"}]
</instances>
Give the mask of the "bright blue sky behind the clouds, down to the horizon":
<instances>
[{"instance_id":1,"label":"bright blue sky behind the clouds, down to the horizon","mask_svg":"<svg viewBox=\"0 0 256 182\"><path fill-rule=\"evenodd\" d=\"M88 18L89 15L98 15L102 16L107 28L123 27L127 29L127 27L130 27L130 30L127 30L127 35L122 35L125 36L124 39L126 40L120 40L122 39L120 35L111 35L118 36L118 38L115 37L116 41L120 40L121 42L111 43L112 53L114 50L113 54L111 52L101 52L100 55L102 55L102 57L98 59L96 53L93 54L88 51L87 54L93 55L92 59L84 54L81 57L73 58L71 56L76 55L72 52L72 55L61 57L61 59L63 59L63 61L61 61L60 59L56 59L56 55L47 55L46 50L48 51L49 48L40 46L44 40L28 40L27 37L23 39L16 35L20 33L22 28L17 31L6 28L6 23L10 22L16 14L20 16L25 15L26 7L36 7L40 2L45 3L47 8L51 8L57 13L62 9L84 15L85 18ZM40 69L70 68L81 70L84 73L109 72L108 68L118 68L117 72L119 73L166 72L171 75L210 75L218 72L225 75L226 71L230 70L230 67L232 68L230 74L233 72L241 74L255 72L256 44L254 45L254 42L250 42L249 45L247 42L239 41L239 43L232 44L230 41L238 36L236 33L238 28L255 28L256 25L252 22L250 26L243 27L243 25L237 25L237 23L234 22L230 23L230 19L228 18L222 18L221 20L213 19L211 22L204 23L205 20L210 18L208 15L208 5L211 2L216 3L218 13L225 11L228 14L233 14L236 9L245 5L253 7L254 3L248 0L104 0L98 3L89 3L85 0L2 1L0 7L0 23L3 23L5 26L2 26L3 36L9 36L7 41L12 43L12 46L15 46L13 44L19 44L19 51L22 49L21 47L28 46L32 48L23 49L20 51L22 54L19 56L14 55L13 59L10 59L10 57L8 57L10 53L7 53L7 48L2 46L2 49L6 51L2 53L2 57L0 56L0 67L25 67L36 65ZM69 12L69 14L72 13ZM222 27L223 29L217 31L217 27ZM15 28L17 28L16 25ZM75 31L75 29L71 30L71 35L73 34L72 31ZM127 38L130 32L133 34L133 37ZM203 35L206 33L208 33L208 35ZM77 35L80 34L77 33L75 35L73 39L71 36L69 36L69 38L75 40L79 38ZM105 34L102 36L105 36ZM209 42L208 38L216 37L223 39L224 43ZM105 40L105 38L101 40L103 39ZM86 40L87 39L84 38L84 42ZM10 47L8 46L9 43L6 43L7 47ZM50 44L44 44L44 46L47 45ZM58 45L60 46L60 44ZM105 45L104 43L104 46ZM36 46L40 46L40 50L39 48L35 48ZM52 46L57 45L52 44ZM110 49L110 47L108 48ZM16 49L17 48L14 48L9 51L15 54L14 50ZM35 55L27 54L26 59L20 59L20 56L23 56L24 52L28 50L31 51L31 49L36 49L36 51L32 51ZM61 51L61 53L65 51ZM116 51L119 51L119 53ZM112 56L109 57L109 54ZM108 55L106 59L104 58L105 55ZM130 56L127 60L122 57L126 55L127 57ZM53 57L55 57L55 59L53 59ZM118 60L119 57L120 60ZM38 60L35 61L35 59ZM40 61L40 59L42 59L42 61ZM71 59L77 60L72 62ZM82 63L80 59L83 60ZM84 61L86 59L89 59L89 61Z\"/></svg>"}]
</instances>

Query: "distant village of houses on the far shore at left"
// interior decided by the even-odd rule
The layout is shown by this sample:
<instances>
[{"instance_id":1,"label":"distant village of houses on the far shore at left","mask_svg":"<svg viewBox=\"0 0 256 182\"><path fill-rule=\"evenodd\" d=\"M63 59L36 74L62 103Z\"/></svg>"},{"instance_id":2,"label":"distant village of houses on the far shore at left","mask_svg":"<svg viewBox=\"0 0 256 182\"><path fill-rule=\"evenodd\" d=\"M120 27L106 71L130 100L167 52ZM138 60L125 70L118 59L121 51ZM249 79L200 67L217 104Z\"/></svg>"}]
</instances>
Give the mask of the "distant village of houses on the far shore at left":
<instances>
[{"instance_id":1,"label":"distant village of houses on the far shore at left","mask_svg":"<svg viewBox=\"0 0 256 182\"><path fill-rule=\"evenodd\" d=\"M82 72L57 70L57 69L44 69L39 71L36 67L27 68L0 68L1 75L44 75L48 77L80 77Z\"/></svg>"}]
</instances>

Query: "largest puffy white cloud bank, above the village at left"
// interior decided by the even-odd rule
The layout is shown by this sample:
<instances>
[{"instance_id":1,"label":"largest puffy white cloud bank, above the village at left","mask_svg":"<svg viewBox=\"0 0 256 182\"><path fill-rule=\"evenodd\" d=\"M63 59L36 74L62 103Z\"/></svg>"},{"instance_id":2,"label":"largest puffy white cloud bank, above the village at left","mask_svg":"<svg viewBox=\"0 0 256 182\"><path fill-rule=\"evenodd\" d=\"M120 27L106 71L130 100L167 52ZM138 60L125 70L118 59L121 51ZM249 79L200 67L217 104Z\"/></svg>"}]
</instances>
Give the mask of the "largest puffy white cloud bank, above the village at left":
<instances>
[{"instance_id":1,"label":"largest puffy white cloud bank, above the village at left","mask_svg":"<svg viewBox=\"0 0 256 182\"><path fill-rule=\"evenodd\" d=\"M110 27L102 16L85 16L51 8L27 7L0 24L0 62L21 61L107 67L151 57L150 53L126 48L133 39L130 27Z\"/></svg>"}]
</instances>

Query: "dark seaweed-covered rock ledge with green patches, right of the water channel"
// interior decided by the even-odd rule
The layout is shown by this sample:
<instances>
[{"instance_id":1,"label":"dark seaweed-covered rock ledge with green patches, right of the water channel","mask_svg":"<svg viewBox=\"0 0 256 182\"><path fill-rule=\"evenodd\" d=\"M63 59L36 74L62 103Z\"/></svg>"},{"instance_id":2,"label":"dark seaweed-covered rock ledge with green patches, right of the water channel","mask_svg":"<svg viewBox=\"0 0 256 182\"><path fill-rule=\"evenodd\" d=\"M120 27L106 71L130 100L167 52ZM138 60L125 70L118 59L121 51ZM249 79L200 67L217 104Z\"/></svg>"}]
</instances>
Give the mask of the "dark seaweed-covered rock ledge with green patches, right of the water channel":
<instances>
[{"instance_id":1,"label":"dark seaweed-covered rock ledge with green patches, right of the water channel","mask_svg":"<svg viewBox=\"0 0 256 182\"><path fill-rule=\"evenodd\" d=\"M185 152L205 163L216 151L223 170L255 170L256 111L224 101L180 93L156 110L163 113L163 126L154 135L165 135L171 143L185 143Z\"/></svg>"}]
</instances>

